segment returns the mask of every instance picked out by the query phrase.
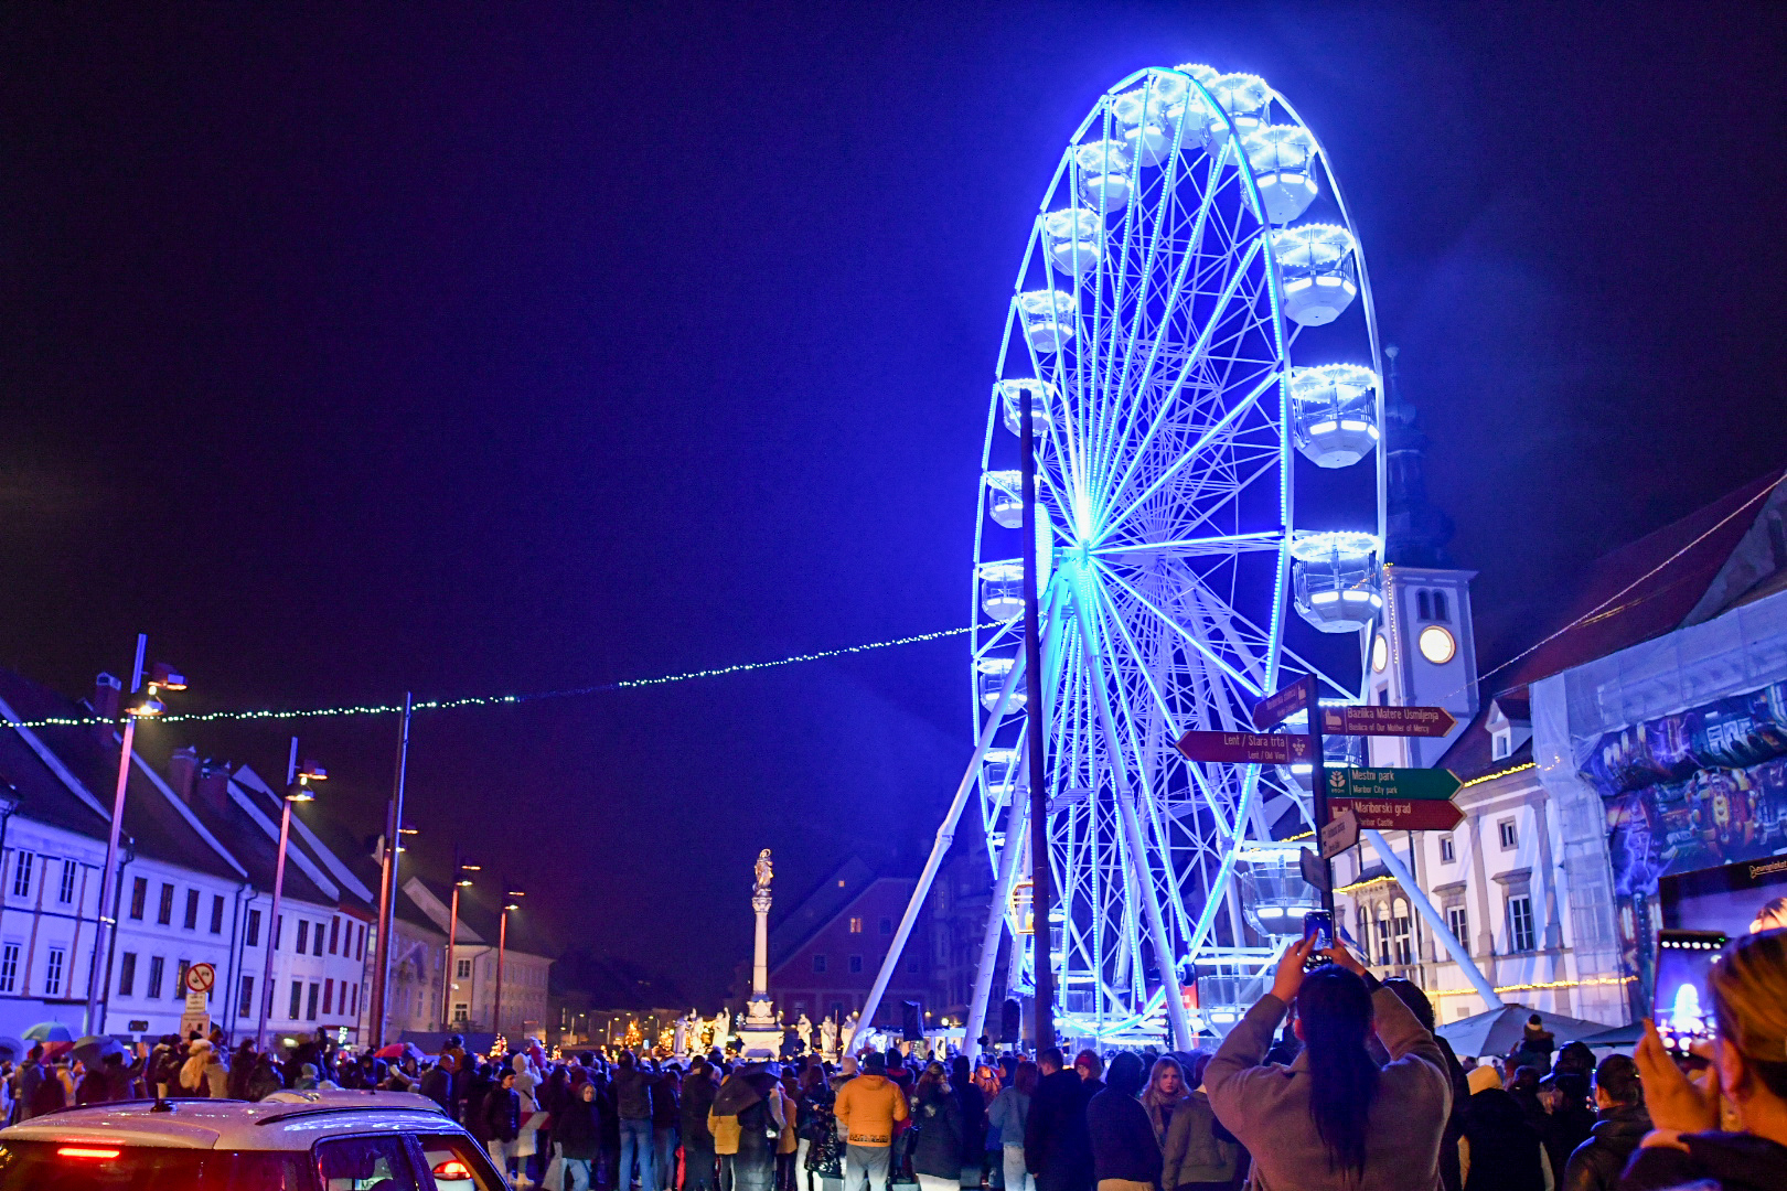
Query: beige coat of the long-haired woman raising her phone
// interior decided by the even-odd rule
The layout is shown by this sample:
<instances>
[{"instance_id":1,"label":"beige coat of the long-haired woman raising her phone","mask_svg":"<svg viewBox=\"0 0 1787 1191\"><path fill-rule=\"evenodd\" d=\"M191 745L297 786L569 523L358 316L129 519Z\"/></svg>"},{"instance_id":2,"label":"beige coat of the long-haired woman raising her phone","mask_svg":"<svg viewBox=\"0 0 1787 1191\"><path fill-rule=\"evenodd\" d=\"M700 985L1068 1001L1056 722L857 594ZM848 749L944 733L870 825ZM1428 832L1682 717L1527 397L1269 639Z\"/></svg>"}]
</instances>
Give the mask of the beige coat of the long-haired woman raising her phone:
<instances>
[{"instance_id":1,"label":"beige coat of the long-haired woman raising her phone","mask_svg":"<svg viewBox=\"0 0 1787 1191\"><path fill-rule=\"evenodd\" d=\"M1256 1191L1435 1191L1440 1186L1440 1134L1451 1112L1451 1079L1439 1043L1396 993L1371 996L1378 1039L1390 1062L1378 1079L1365 1130L1365 1175L1342 1179L1310 1116L1308 1052L1288 1068L1260 1066L1272 1045L1285 1002L1262 996L1204 1070L1217 1120L1253 1154Z\"/></svg>"}]
</instances>

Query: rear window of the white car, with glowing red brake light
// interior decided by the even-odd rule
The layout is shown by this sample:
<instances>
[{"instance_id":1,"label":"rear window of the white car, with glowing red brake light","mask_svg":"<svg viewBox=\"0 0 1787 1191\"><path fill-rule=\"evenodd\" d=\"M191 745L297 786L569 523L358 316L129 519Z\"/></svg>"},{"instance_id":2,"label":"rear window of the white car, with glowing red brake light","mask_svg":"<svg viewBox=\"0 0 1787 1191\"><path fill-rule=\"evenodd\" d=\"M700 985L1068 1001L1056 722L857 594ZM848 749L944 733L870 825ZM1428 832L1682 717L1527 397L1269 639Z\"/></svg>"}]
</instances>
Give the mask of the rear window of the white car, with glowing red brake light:
<instances>
[{"instance_id":1,"label":"rear window of the white car, with glowing red brake light","mask_svg":"<svg viewBox=\"0 0 1787 1191\"><path fill-rule=\"evenodd\" d=\"M0 1191L313 1191L309 1155L7 1141Z\"/></svg>"}]
</instances>

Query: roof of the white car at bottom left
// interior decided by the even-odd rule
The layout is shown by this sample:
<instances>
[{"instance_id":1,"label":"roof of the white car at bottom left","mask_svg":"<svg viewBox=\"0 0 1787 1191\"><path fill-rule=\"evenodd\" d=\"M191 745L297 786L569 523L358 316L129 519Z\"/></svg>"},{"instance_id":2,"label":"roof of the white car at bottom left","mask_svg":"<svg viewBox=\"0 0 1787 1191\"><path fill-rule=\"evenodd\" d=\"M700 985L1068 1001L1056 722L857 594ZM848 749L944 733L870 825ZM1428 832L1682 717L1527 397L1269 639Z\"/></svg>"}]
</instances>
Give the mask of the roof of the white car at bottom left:
<instances>
[{"instance_id":1,"label":"roof of the white car at bottom left","mask_svg":"<svg viewBox=\"0 0 1787 1191\"><path fill-rule=\"evenodd\" d=\"M7 1141L105 1143L175 1150L309 1150L331 1134L465 1130L407 1091L279 1091L266 1100L118 1100L61 1109L0 1129Z\"/></svg>"}]
</instances>

